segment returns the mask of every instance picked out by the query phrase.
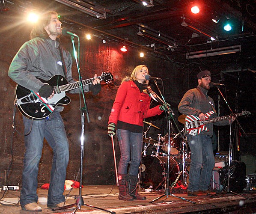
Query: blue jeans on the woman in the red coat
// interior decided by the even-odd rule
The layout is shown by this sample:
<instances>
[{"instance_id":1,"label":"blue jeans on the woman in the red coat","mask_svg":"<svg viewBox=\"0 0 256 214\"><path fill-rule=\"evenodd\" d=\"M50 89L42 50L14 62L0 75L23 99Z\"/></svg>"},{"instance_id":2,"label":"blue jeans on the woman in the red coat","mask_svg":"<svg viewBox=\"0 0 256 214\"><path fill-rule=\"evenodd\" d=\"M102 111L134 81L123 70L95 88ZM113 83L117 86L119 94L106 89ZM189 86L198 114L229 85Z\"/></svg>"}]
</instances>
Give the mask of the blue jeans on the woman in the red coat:
<instances>
[{"instance_id":1,"label":"blue jeans on the woman in the red coat","mask_svg":"<svg viewBox=\"0 0 256 214\"><path fill-rule=\"evenodd\" d=\"M121 153L118 173L122 175L129 174L138 176L143 146L142 133L134 133L124 129L117 129L116 134ZM129 167L129 173L127 173L129 163L131 164Z\"/></svg>"}]
</instances>

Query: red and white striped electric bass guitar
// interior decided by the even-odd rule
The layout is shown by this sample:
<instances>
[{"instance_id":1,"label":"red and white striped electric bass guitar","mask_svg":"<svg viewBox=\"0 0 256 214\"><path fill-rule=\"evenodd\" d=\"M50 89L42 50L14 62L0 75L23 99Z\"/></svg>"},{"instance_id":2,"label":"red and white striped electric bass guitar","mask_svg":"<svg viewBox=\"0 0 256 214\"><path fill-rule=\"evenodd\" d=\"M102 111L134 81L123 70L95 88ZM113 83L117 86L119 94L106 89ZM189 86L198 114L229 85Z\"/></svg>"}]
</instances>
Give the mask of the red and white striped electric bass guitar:
<instances>
[{"instance_id":1,"label":"red and white striped electric bass guitar","mask_svg":"<svg viewBox=\"0 0 256 214\"><path fill-rule=\"evenodd\" d=\"M209 119L211 115L214 114L214 111L209 111L205 114L206 120L202 121L198 116L189 114L185 118L185 127L187 128L188 134L192 136L196 136L201 133L201 131L208 131L208 128L205 127L206 124L212 123L212 122L218 122L222 120L228 120L230 119L230 116L222 116L222 117L215 117L212 119ZM242 111L241 113L235 114L235 116L243 116L243 115L250 115L251 113L249 111Z\"/></svg>"}]
</instances>

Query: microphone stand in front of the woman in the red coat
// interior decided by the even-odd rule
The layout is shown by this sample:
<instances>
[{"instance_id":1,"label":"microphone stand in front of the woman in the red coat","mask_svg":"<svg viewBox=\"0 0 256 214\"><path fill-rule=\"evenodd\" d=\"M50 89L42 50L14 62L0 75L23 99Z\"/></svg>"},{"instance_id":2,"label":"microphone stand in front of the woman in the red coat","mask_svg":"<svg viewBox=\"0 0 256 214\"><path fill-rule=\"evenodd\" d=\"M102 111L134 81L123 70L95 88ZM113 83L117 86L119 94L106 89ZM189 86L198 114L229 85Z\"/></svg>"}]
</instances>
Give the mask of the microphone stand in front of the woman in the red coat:
<instances>
[{"instance_id":1,"label":"microphone stand in front of the woman in the red coat","mask_svg":"<svg viewBox=\"0 0 256 214\"><path fill-rule=\"evenodd\" d=\"M166 175L166 177L165 177L165 190L164 190L163 195L159 196L156 199L153 199L150 203L153 203L153 202L157 201L158 199L161 199L164 196L166 196L166 198L168 198L168 196L173 196L173 197L176 197L176 198L179 198L179 199L182 199L182 200L185 200L187 202L191 202L191 203L195 204L196 202L192 202L192 201L190 201L188 199L185 199L183 197L176 196L176 195L174 195L170 192L170 188L169 188L169 179L170 179L169 178L169 170L170 170L170 135L171 135L171 120L170 120L170 118L173 119L173 122L176 125L176 128L178 129L178 131L179 131L179 128L178 128L178 126L177 126L177 124L176 124L176 122L173 118L173 110L171 110L170 107L167 105L167 102L165 101L164 96L161 94L161 90L159 89L156 80L154 80L154 82L155 82L155 85L156 85L162 99L163 99L163 104L165 104L165 106L167 107L167 110L168 110L167 112L170 113L170 117L168 117L168 119L169 119L169 121L168 121L168 155L167 155L168 158L167 158L167 172L165 172L165 175Z\"/></svg>"}]
</instances>

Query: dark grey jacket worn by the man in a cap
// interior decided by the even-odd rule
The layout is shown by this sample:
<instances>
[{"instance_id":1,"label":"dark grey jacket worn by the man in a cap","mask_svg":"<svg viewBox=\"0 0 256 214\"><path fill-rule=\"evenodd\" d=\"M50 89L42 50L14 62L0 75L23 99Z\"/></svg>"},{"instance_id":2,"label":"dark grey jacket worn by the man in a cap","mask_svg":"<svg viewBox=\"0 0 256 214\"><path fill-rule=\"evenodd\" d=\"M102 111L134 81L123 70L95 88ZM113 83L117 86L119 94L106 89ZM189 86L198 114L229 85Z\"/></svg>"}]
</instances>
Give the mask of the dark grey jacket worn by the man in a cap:
<instances>
[{"instance_id":1,"label":"dark grey jacket worn by the man in a cap","mask_svg":"<svg viewBox=\"0 0 256 214\"><path fill-rule=\"evenodd\" d=\"M214 101L211 97L207 95L208 90L202 88L201 86L197 86L195 89L188 90L183 96L182 100L179 103L178 110L180 113L188 115L192 114L195 116L199 116L200 113L207 113L211 110L214 110L214 114L211 118L218 117ZM228 121L220 121L209 123L206 125L209 131L202 131L202 135L210 135L213 134L213 124L214 125L229 125Z\"/></svg>"}]
</instances>

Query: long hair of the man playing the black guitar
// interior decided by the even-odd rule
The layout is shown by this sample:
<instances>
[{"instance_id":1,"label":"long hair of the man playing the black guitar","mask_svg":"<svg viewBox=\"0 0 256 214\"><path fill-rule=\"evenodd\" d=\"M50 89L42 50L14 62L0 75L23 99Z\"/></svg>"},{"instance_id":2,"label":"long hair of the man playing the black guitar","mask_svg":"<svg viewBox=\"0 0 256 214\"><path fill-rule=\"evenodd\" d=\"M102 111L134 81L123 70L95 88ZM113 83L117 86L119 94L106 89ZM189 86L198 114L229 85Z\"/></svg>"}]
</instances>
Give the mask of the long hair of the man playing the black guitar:
<instances>
[{"instance_id":1,"label":"long hair of the man playing the black guitar","mask_svg":"<svg viewBox=\"0 0 256 214\"><path fill-rule=\"evenodd\" d=\"M40 18L34 25L33 29L30 33L30 39L36 38L36 37L49 37L48 33L45 31L45 27L50 24L51 21L51 15L54 14L58 17L58 13L55 11L48 11L40 15Z\"/></svg>"}]
</instances>

